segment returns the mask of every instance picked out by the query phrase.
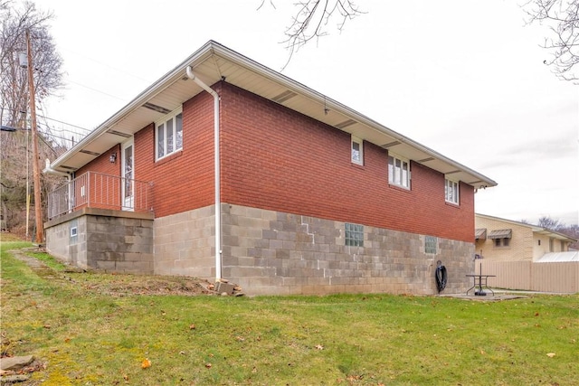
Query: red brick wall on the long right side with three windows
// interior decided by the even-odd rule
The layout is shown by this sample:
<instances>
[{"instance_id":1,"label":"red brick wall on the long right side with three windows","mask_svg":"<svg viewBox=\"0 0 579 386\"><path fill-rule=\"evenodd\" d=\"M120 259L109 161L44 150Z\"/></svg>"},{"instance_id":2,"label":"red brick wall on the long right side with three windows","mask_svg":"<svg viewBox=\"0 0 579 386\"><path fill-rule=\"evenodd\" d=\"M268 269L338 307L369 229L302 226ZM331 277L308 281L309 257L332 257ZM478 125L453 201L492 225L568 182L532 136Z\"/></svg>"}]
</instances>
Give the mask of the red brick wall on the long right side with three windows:
<instances>
[{"instance_id":1,"label":"red brick wall on the long right side with three windows","mask_svg":"<svg viewBox=\"0 0 579 386\"><path fill-rule=\"evenodd\" d=\"M412 190L388 184L387 152L364 143L350 162L350 136L223 84L222 202L472 241L474 192L444 201L444 175L412 163Z\"/></svg>"}]
</instances>

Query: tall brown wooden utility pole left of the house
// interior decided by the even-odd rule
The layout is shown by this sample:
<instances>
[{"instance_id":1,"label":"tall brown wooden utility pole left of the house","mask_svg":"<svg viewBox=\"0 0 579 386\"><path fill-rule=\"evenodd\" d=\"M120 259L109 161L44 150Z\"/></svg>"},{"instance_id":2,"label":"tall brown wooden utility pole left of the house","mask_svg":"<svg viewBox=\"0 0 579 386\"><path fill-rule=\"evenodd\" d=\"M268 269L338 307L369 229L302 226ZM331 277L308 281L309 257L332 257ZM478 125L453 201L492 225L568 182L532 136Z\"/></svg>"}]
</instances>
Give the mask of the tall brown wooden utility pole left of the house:
<instances>
[{"instance_id":1,"label":"tall brown wooden utility pole left of the house","mask_svg":"<svg viewBox=\"0 0 579 386\"><path fill-rule=\"evenodd\" d=\"M40 196L40 165L38 165L38 133L36 130L36 100L34 98L33 50L30 42L30 30L26 30L28 51L28 89L30 100L30 118L33 132L33 182L34 213L36 218L36 243L43 243L43 208Z\"/></svg>"}]
</instances>

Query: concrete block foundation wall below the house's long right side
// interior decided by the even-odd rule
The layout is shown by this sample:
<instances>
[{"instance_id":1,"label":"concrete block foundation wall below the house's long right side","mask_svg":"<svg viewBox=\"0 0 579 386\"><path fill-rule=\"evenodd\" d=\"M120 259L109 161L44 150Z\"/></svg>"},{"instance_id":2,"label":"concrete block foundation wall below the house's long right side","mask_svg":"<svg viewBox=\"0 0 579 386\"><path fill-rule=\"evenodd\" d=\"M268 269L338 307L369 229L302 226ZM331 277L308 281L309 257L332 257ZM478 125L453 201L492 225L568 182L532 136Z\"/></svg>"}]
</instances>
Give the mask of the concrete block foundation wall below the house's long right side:
<instances>
[{"instance_id":1,"label":"concrete block foundation wall below the house's long right side","mask_svg":"<svg viewBox=\"0 0 579 386\"><path fill-rule=\"evenodd\" d=\"M223 278L252 295L436 294L437 260L447 268L444 293L466 292L473 244L365 226L364 247L345 245L344 222L223 204Z\"/></svg>"}]
</instances>

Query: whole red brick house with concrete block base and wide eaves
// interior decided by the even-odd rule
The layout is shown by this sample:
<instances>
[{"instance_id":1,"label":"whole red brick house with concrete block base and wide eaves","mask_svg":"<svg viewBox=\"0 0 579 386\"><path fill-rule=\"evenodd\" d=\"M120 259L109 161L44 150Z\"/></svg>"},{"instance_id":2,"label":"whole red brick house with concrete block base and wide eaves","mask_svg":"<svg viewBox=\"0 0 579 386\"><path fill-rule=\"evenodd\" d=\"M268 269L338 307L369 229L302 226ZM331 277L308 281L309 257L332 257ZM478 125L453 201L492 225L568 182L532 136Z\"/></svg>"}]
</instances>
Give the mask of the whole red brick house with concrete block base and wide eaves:
<instances>
[{"instance_id":1,"label":"whole red brick house with concrete block base and wide eaves","mask_svg":"<svg viewBox=\"0 0 579 386\"><path fill-rule=\"evenodd\" d=\"M44 172L53 255L248 294L435 294L438 260L463 292L496 185L217 42Z\"/></svg>"}]
</instances>

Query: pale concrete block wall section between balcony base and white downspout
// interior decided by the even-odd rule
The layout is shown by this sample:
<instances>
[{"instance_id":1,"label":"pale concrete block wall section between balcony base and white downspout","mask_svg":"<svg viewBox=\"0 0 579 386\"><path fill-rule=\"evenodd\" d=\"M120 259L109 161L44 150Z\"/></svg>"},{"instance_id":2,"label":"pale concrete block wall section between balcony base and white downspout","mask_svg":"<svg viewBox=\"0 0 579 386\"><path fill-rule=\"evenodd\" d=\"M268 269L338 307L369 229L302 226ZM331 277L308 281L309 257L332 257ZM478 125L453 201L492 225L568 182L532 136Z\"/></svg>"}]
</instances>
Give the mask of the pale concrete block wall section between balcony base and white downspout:
<instances>
[{"instance_id":1,"label":"pale concrete block wall section between balcony base and white downspout","mask_svg":"<svg viewBox=\"0 0 579 386\"><path fill-rule=\"evenodd\" d=\"M214 206L155 220L156 275L215 278Z\"/></svg>"}]
</instances>

